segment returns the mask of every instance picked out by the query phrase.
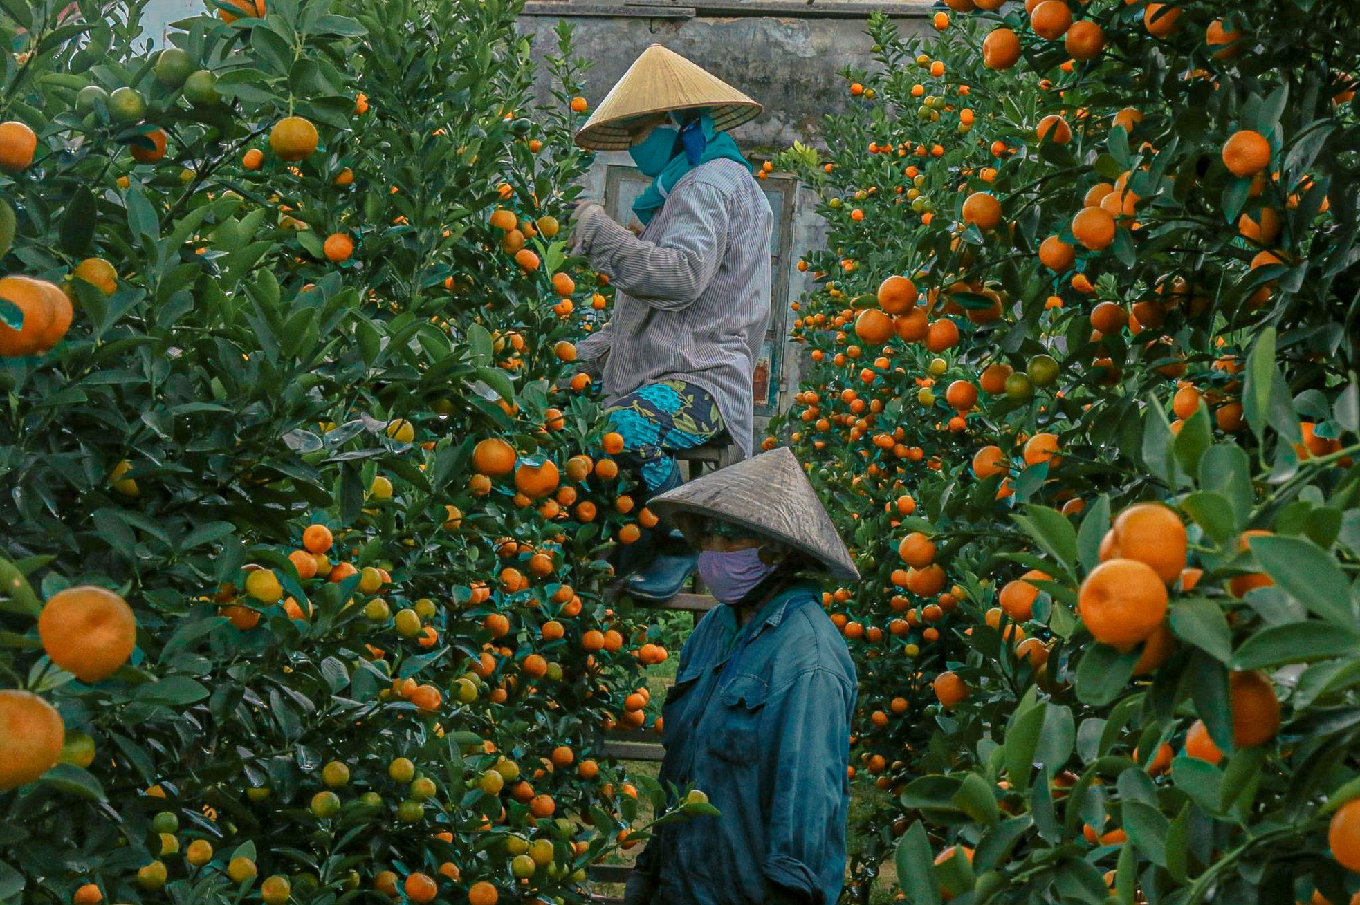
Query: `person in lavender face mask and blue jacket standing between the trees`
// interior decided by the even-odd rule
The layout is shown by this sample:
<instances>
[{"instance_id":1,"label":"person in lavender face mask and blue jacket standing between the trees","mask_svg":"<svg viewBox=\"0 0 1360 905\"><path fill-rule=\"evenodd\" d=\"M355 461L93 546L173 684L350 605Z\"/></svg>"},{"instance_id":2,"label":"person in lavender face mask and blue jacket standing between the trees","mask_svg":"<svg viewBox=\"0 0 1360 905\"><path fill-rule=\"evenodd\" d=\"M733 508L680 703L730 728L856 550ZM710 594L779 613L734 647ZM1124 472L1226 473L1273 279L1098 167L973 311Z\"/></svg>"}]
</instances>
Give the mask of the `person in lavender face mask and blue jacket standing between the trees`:
<instances>
[{"instance_id":1,"label":"person in lavender face mask and blue jacket standing between the trees","mask_svg":"<svg viewBox=\"0 0 1360 905\"><path fill-rule=\"evenodd\" d=\"M695 626L666 693L664 788L719 815L665 823L624 905L832 905L846 868L857 679L820 579L860 579L786 447L651 501L700 550L722 602Z\"/></svg>"}]
</instances>

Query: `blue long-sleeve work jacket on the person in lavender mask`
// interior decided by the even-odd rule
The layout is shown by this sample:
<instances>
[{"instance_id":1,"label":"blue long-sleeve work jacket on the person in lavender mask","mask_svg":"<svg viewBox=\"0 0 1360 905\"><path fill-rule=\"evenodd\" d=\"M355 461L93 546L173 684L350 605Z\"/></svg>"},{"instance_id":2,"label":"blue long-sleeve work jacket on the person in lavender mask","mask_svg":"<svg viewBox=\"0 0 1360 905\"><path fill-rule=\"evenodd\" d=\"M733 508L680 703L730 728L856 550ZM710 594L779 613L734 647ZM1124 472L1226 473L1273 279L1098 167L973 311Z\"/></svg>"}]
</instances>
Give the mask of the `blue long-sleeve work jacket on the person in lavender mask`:
<instances>
[{"instance_id":1,"label":"blue long-sleeve work jacket on the person in lavender mask","mask_svg":"<svg viewBox=\"0 0 1360 905\"><path fill-rule=\"evenodd\" d=\"M850 652L812 584L745 626L710 610L666 693L661 781L692 783L721 817L664 825L638 859L653 902L762 905L770 883L832 904L846 868Z\"/></svg>"}]
</instances>

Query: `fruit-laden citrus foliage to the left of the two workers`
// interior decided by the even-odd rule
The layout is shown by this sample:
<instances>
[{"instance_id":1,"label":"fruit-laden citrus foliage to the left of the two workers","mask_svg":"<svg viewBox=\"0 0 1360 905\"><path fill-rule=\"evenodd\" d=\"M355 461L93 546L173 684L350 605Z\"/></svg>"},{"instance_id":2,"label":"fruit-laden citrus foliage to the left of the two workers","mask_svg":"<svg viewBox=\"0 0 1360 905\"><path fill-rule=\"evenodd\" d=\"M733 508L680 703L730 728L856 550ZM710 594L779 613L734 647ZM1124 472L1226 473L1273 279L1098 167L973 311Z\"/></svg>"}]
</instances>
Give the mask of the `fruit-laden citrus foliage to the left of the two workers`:
<instances>
[{"instance_id":1,"label":"fruit-laden citrus foliage to the left of the two workers","mask_svg":"<svg viewBox=\"0 0 1360 905\"><path fill-rule=\"evenodd\" d=\"M570 29L536 105L514 3L141 5L0 11L0 901L582 901L668 652Z\"/></svg>"}]
</instances>

